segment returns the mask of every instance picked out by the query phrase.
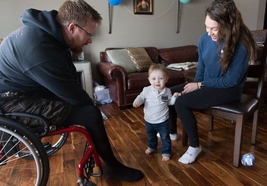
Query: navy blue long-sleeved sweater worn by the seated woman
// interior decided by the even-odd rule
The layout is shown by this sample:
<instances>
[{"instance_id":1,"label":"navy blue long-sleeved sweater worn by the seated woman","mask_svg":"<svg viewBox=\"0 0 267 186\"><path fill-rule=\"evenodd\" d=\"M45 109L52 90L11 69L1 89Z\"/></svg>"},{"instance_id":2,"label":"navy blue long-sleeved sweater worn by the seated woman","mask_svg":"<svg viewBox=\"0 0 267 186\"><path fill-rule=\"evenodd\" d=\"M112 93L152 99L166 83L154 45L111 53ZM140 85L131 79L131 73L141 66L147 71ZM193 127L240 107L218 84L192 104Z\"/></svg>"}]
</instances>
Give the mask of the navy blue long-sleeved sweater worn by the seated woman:
<instances>
[{"instance_id":1,"label":"navy blue long-sleeved sweater worn by the seated woman","mask_svg":"<svg viewBox=\"0 0 267 186\"><path fill-rule=\"evenodd\" d=\"M248 51L243 45L238 43L227 73L223 74L220 67L217 46L218 42L213 41L207 33L204 33L200 37L198 43L198 69L194 82L204 81L205 87L242 88L247 78L249 64Z\"/></svg>"}]
</instances>

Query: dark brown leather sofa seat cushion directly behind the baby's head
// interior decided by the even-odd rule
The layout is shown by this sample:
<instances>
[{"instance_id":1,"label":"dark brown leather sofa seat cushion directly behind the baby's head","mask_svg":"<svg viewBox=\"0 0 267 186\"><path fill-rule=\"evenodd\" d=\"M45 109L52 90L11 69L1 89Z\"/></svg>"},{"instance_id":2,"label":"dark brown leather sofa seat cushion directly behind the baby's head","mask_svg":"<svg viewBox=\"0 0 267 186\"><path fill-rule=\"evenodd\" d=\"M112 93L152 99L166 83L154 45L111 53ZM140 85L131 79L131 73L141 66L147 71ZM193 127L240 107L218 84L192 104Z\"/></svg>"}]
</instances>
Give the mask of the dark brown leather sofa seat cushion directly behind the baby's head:
<instances>
[{"instance_id":1,"label":"dark brown leather sofa seat cushion directly behind the baby's head","mask_svg":"<svg viewBox=\"0 0 267 186\"><path fill-rule=\"evenodd\" d=\"M150 86L148 81L148 72L128 73L128 90L143 89L144 86ZM169 80L167 87L172 87L185 82L185 76L177 71L168 70Z\"/></svg>"}]
</instances>

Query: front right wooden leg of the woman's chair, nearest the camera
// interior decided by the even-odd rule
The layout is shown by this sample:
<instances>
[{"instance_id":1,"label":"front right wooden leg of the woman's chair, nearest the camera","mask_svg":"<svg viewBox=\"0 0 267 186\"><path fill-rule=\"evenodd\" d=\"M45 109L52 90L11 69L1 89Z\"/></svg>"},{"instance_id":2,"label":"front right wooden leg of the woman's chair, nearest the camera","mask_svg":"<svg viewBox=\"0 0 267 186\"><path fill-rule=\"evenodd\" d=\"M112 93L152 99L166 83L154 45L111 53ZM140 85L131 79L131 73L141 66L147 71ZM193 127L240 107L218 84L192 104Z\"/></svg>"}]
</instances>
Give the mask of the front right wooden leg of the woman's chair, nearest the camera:
<instances>
[{"instance_id":1,"label":"front right wooden leg of the woman's chair, nearest the camera","mask_svg":"<svg viewBox=\"0 0 267 186\"><path fill-rule=\"evenodd\" d=\"M239 166L240 153L242 149L242 130L244 125L243 115L236 116L236 131L235 131L235 144L234 144L234 157L233 165L235 167Z\"/></svg>"}]
</instances>

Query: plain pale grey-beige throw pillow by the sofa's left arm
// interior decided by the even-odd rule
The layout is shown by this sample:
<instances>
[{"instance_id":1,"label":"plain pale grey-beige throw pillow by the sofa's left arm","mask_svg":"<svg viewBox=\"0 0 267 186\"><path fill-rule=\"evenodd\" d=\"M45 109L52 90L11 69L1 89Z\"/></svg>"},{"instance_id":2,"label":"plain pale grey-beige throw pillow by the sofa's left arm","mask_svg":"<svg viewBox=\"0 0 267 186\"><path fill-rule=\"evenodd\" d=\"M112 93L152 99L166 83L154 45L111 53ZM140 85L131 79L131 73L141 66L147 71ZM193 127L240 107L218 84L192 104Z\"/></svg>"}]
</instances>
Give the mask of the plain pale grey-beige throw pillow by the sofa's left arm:
<instances>
[{"instance_id":1,"label":"plain pale grey-beige throw pillow by the sofa's left arm","mask_svg":"<svg viewBox=\"0 0 267 186\"><path fill-rule=\"evenodd\" d=\"M127 73L137 72L126 49L108 50L107 55L112 64L122 66Z\"/></svg>"}]
</instances>

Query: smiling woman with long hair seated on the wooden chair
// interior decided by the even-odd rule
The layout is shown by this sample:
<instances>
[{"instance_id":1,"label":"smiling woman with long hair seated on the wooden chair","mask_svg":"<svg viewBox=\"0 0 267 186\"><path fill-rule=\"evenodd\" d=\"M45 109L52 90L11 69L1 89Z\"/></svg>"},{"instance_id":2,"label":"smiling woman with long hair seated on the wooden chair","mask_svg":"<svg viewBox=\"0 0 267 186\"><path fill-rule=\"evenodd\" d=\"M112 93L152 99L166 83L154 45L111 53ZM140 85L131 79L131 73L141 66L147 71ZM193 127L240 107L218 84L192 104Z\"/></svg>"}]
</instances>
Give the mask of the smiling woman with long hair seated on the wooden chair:
<instances>
[{"instance_id":1,"label":"smiling woman with long hair seated on the wooden chair","mask_svg":"<svg viewBox=\"0 0 267 186\"><path fill-rule=\"evenodd\" d=\"M194 83L171 87L172 92L182 93L169 112L170 133L176 133L178 115L188 134L189 148L179 159L185 164L194 162L202 151L192 109L239 100L249 60L254 60L257 50L233 0L214 0L206 8L205 16L206 33L198 43L199 60Z\"/></svg>"}]
</instances>

